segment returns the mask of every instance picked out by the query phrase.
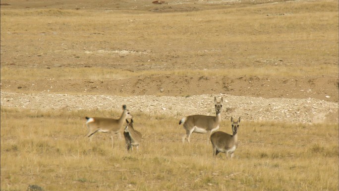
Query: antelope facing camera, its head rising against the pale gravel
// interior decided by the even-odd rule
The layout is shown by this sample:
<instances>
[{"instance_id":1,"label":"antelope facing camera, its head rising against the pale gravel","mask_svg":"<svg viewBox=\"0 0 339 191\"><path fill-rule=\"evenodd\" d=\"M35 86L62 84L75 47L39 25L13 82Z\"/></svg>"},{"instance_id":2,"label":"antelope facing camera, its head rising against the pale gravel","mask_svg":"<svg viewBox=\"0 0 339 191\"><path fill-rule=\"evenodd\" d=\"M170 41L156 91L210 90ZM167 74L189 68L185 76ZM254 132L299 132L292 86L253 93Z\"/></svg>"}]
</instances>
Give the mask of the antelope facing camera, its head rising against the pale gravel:
<instances>
[{"instance_id":1,"label":"antelope facing camera, its head rising against the pale gravel","mask_svg":"<svg viewBox=\"0 0 339 191\"><path fill-rule=\"evenodd\" d=\"M217 98L214 97L214 104L216 109L216 116L203 116L203 115L194 115L184 117L180 120L179 125L183 124L183 128L186 130L186 134L182 136L182 142L187 140L190 142L190 136L193 132L197 133L207 133L207 144L210 141L210 136L212 132L219 129L221 122L221 109L223 107L223 98L221 98L220 102L217 101Z\"/></svg>"}]
</instances>

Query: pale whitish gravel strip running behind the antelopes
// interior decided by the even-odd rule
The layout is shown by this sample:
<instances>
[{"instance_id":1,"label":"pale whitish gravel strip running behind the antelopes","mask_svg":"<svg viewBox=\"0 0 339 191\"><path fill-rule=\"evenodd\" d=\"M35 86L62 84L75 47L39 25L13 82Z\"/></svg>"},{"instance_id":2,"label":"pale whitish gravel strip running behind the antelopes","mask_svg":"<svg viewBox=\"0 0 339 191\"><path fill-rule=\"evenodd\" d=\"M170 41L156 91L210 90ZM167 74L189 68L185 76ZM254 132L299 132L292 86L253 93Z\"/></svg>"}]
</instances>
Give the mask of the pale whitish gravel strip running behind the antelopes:
<instances>
[{"instance_id":1,"label":"pale whitish gravel strip running behind the antelopes","mask_svg":"<svg viewBox=\"0 0 339 191\"><path fill-rule=\"evenodd\" d=\"M112 96L68 95L52 93L12 93L1 91L1 107L31 110L51 109L99 109L121 110L126 104L133 112L149 115L170 115L181 119L184 116L201 114L215 115L215 95L178 96ZM241 116L246 121L280 121L292 123L321 123L328 114L338 112L338 103L317 99L256 98L216 95L224 97L222 118Z\"/></svg>"}]
</instances>

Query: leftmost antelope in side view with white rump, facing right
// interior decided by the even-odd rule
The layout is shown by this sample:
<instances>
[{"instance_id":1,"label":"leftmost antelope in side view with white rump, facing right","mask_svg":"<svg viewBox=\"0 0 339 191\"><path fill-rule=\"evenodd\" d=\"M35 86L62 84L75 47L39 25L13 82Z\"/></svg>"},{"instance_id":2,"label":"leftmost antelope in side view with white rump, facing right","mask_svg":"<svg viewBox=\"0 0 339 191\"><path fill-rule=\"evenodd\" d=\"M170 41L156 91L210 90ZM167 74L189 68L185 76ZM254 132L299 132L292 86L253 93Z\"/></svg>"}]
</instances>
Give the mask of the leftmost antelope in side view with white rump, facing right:
<instances>
[{"instance_id":1,"label":"leftmost antelope in side view with white rump, facing right","mask_svg":"<svg viewBox=\"0 0 339 191\"><path fill-rule=\"evenodd\" d=\"M119 133L119 138L121 139L120 129L123 127L123 124L126 119L133 118L128 110L126 110L126 105L122 106L122 114L119 119L111 119L111 118L89 118L86 117L86 125L88 129L88 133L85 135L87 137L92 136L96 132L106 132L111 134L112 139L112 148L113 148L113 134ZM92 137L90 137L91 139ZM92 140L92 139L91 139Z\"/></svg>"}]
</instances>

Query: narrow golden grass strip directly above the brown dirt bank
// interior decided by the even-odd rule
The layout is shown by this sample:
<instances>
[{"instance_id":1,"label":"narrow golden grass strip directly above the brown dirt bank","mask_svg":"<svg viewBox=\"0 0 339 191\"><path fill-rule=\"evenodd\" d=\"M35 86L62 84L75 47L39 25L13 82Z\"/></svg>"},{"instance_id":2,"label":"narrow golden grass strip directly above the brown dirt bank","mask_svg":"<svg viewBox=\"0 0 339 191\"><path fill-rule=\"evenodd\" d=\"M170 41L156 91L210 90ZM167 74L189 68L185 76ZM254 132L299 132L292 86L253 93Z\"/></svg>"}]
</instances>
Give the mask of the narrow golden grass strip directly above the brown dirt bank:
<instances>
[{"instance_id":1,"label":"narrow golden grass strip directly above the brown dirt bank","mask_svg":"<svg viewBox=\"0 0 339 191\"><path fill-rule=\"evenodd\" d=\"M177 76L306 76L319 75L320 73L336 75L338 70L336 65L318 65L314 67L246 67L246 68L229 68L229 69L209 69L209 70L189 70L189 69L173 69L173 70L149 70L149 71L128 71L121 69L108 68L1 68L1 79L10 80L34 80L34 79L91 79L91 80L107 80L107 79L125 79L140 75L177 75ZM20 75L17 75L20 73Z\"/></svg>"}]
</instances>

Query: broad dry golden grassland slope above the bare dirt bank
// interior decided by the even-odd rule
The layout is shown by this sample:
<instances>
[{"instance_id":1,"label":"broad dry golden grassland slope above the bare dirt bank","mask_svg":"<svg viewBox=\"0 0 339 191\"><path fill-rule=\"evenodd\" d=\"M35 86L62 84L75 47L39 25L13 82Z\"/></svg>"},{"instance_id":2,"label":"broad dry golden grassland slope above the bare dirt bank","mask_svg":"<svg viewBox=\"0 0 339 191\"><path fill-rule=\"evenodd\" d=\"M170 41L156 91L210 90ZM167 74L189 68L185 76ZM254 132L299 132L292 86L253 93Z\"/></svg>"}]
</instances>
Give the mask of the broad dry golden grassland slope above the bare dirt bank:
<instances>
[{"instance_id":1,"label":"broad dry golden grassland slope above the bare dirt bank","mask_svg":"<svg viewBox=\"0 0 339 191\"><path fill-rule=\"evenodd\" d=\"M30 83L37 85L47 79L108 81L147 76L158 80L175 76L185 81L182 76L227 76L229 81L236 81L239 77L259 76L269 77L274 83L295 78L300 84L297 91L307 91L309 82L324 79L322 84L316 84L324 88L310 87L312 93L302 98L324 99L328 91L338 91L336 0L243 1L208 6L194 0L183 4L169 1L159 6L128 0L116 1L119 8L100 10L100 2L79 5L85 7L79 10L69 8L71 5L64 7L63 2L35 8L25 7L44 2L18 2L16 6L20 8L11 8L15 2L1 6L0 63L1 80L22 88L15 90L13 84L1 84L2 90L30 93L32 88L24 88L23 84L38 80ZM190 9L192 5L187 3L196 9ZM62 93L76 93L67 83L62 85L69 89ZM84 83L78 86L88 89ZM154 86L150 84L150 88ZM249 86L247 83L242 89L221 93L241 95L239 92L248 91ZM289 85L289 90L281 91L291 96L294 88ZM44 90L47 89L35 92ZM125 92L120 93L132 93ZM329 93L329 101L338 102L337 93Z\"/></svg>"}]
</instances>

